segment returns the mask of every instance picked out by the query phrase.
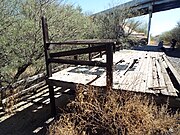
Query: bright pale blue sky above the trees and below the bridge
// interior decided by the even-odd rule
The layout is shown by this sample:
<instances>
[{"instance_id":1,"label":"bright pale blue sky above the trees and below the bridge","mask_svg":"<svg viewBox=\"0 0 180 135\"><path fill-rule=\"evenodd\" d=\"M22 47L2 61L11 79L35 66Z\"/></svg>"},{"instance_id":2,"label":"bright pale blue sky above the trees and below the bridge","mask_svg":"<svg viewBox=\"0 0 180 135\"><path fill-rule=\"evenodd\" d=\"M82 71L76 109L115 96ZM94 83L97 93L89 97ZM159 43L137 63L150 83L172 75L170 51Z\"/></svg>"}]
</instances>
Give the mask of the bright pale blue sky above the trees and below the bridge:
<instances>
[{"instance_id":1,"label":"bright pale blue sky above the trees and below the bridge","mask_svg":"<svg viewBox=\"0 0 180 135\"><path fill-rule=\"evenodd\" d=\"M74 6L79 5L84 13L97 13L128 1L131 0L66 0L67 3L71 3ZM146 15L139 17L139 19L148 23L149 17ZM169 31L177 25L178 21L180 22L180 8L153 13L151 21L150 34L152 36Z\"/></svg>"}]
</instances>

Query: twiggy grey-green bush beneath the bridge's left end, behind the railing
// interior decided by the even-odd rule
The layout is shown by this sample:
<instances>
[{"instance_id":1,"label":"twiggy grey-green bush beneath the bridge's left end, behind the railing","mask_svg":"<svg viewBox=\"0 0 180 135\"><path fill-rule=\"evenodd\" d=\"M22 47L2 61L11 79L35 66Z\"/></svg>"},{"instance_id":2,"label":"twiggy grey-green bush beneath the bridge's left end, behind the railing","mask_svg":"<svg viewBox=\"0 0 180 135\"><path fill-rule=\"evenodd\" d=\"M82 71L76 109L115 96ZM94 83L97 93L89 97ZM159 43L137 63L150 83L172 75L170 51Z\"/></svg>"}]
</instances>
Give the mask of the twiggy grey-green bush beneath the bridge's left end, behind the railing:
<instances>
[{"instance_id":1,"label":"twiggy grey-green bush beneath the bridge's left end, behind the railing","mask_svg":"<svg viewBox=\"0 0 180 135\"><path fill-rule=\"evenodd\" d=\"M107 13L102 12L94 16L94 21L98 27L98 38L117 39L125 48L133 46L130 35L140 25L139 21L130 19L133 14L140 13L129 7L124 7L121 10L112 8Z\"/></svg>"}]
</instances>

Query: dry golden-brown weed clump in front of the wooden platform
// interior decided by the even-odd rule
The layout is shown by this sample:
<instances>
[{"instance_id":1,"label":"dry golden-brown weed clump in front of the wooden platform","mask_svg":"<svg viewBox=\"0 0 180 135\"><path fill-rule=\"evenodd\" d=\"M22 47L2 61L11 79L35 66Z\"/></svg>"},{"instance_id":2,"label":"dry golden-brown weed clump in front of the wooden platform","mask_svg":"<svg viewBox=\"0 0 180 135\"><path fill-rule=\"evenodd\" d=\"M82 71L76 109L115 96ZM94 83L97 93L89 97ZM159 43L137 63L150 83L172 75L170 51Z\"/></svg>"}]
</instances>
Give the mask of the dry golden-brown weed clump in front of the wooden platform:
<instances>
[{"instance_id":1,"label":"dry golden-brown weed clump in front of the wooden platform","mask_svg":"<svg viewBox=\"0 0 180 135\"><path fill-rule=\"evenodd\" d=\"M158 107L147 97L122 91L79 86L50 135L178 135L180 115Z\"/></svg>"}]
</instances>

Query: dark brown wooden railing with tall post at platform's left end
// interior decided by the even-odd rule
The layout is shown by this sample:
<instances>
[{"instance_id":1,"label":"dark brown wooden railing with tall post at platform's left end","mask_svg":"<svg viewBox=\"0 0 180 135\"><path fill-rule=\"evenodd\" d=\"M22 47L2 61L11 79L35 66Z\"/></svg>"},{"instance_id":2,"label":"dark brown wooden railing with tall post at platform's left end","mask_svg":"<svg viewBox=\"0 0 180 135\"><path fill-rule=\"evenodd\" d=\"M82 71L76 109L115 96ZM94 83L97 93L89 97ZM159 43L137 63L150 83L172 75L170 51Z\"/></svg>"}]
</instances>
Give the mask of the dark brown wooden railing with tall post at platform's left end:
<instances>
[{"instance_id":1,"label":"dark brown wooden railing with tall post at platform's left end","mask_svg":"<svg viewBox=\"0 0 180 135\"><path fill-rule=\"evenodd\" d=\"M46 71L47 71L47 84L49 86L49 95L51 102L51 112L53 115L56 114L55 99L54 99L54 89L53 86L60 86L57 80L49 79L52 77L52 63L60 64L73 64L73 65L87 65L87 66L99 66L106 67L106 90L112 88L113 82L113 48L117 42L115 40L73 40L65 42L50 42L48 35L48 25L45 17L42 17L42 29L43 29L43 41L44 41L44 53L46 61ZM86 48L79 48L76 50L68 51L58 51L51 52L50 46L62 46L62 45L74 45L81 46L86 45ZM94 52L105 51L106 62L91 61L91 54ZM89 60L78 60L77 55L89 54ZM76 59L63 59L65 56L76 56Z\"/></svg>"}]
</instances>

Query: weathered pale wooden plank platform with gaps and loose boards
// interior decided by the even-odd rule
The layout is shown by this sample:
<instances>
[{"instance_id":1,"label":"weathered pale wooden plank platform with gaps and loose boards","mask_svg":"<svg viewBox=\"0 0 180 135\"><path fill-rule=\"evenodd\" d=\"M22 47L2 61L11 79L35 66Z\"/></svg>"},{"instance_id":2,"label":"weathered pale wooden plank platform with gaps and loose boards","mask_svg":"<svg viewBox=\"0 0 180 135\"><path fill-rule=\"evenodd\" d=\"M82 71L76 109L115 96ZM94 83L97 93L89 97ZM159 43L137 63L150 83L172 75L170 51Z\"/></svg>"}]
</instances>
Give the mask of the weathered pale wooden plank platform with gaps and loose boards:
<instances>
[{"instance_id":1,"label":"weathered pale wooden plank platform with gaps and loose boards","mask_svg":"<svg viewBox=\"0 0 180 135\"><path fill-rule=\"evenodd\" d=\"M94 61L105 62L105 55ZM113 55L113 89L178 96L178 90L168 74L174 69L163 52L121 50ZM175 75L178 78L179 74ZM49 79L59 83L106 85L106 72L102 67L74 66L54 73Z\"/></svg>"}]
</instances>

